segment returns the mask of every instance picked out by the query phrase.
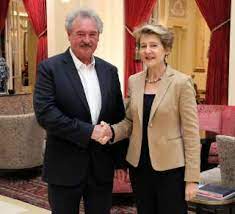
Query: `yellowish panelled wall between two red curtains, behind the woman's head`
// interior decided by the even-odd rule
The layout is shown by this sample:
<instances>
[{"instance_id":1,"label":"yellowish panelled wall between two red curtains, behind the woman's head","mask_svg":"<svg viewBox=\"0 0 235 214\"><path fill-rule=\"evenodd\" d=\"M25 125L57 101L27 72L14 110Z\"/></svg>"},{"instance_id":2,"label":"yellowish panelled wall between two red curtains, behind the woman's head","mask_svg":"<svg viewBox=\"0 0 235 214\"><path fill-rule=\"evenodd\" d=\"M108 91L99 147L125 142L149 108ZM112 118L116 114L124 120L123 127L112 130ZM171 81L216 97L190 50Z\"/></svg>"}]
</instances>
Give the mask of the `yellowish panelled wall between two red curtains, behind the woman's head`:
<instances>
[{"instance_id":1,"label":"yellowish panelled wall between two red curtains, behind the woman's head","mask_svg":"<svg viewBox=\"0 0 235 214\"><path fill-rule=\"evenodd\" d=\"M170 27L175 35L169 64L195 75L198 89L204 91L210 31L195 1L158 0L157 13L158 23Z\"/></svg>"}]
</instances>

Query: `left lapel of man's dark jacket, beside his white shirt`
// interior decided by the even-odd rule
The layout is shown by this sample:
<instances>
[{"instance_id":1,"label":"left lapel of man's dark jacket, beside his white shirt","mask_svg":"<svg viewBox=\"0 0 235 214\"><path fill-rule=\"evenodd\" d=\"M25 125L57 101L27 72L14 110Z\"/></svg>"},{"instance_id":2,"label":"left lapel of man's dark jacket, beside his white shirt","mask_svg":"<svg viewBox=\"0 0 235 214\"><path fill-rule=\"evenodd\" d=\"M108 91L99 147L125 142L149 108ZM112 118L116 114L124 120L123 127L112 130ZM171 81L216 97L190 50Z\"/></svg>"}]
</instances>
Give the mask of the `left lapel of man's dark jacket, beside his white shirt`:
<instances>
[{"instance_id":1,"label":"left lapel of man's dark jacket, beside his white shirt","mask_svg":"<svg viewBox=\"0 0 235 214\"><path fill-rule=\"evenodd\" d=\"M78 71L74 65L73 59L69 53L69 50L67 50L65 52L64 62L67 67L66 74L67 74L68 78L70 79L70 82L72 83L72 86L73 86L74 90L76 91L78 97L81 99L81 102L83 103L87 112L89 112L89 114L90 114L90 109L89 109L88 102L86 99L85 91L84 91L80 76L78 75Z\"/></svg>"}]
</instances>

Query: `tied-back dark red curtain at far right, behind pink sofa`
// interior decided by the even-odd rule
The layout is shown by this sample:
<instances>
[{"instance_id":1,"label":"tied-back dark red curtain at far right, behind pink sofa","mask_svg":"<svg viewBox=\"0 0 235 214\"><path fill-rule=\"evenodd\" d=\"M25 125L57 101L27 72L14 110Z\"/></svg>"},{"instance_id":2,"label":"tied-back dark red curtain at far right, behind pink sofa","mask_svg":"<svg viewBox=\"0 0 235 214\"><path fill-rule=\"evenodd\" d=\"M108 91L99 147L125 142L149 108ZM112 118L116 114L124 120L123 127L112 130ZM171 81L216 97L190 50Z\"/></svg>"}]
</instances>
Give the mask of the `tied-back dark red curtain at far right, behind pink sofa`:
<instances>
[{"instance_id":1,"label":"tied-back dark red curtain at far right, behind pink sofa","mask_svg":"<svg viewBox=\"0 0 235 214\"><path fill-rule=\"evenodd\" d=\"M211 30L206 83L207 104L228 104L231 0L196 0Z\"/></svg>"}]
</instances>

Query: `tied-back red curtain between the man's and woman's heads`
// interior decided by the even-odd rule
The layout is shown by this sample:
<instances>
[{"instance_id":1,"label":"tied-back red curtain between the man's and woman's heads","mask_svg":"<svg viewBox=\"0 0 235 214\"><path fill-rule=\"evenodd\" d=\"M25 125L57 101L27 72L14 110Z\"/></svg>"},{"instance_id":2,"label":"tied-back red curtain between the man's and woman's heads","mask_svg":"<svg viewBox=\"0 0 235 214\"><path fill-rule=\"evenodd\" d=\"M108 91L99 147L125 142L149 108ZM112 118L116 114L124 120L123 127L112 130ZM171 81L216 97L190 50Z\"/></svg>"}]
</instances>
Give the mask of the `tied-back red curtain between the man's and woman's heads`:
<instances>
[{"instance_id":1,"label":"tied-back red curtain between the man's and woman's heads","mask_svg":"<svg viewBox=\"0 0 235 214\"><path fill-rule=\"evenodd\" d=\"M133 29L138 25L147 22L151 16L156 0L125 0L125 94L127 91L127 82L131 74L139 70L138 63L135 62L135 38L131 35Z\"/></svg>"}]
</instances>

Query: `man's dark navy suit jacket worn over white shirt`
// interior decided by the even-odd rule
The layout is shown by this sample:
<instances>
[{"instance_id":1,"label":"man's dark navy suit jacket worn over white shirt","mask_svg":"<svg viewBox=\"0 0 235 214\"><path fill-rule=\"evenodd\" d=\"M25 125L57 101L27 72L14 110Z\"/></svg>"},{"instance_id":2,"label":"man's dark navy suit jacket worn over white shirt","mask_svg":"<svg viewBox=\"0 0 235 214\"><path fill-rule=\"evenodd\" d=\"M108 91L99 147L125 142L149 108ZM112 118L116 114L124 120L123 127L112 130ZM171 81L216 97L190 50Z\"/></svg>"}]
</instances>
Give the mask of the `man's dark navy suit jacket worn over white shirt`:
<instances>
[{"instance_id":1,"label":"man's dark navy suit jacket worn over white shirt","mask_svg":"<svg viewBox=\"0 0 235 214\"><path fill-rule=\"evenodd\" d=\"M117 123L125 116L117 69L97 57L95 69L102 96L98 123ZM98 183L112 182L113 157L120 151L91 140L94 126L69 51L43 61L37 75L34 109L47 132L43 179L51 184L77 185L89 173Z\"/></svg>"}]
</instances>

